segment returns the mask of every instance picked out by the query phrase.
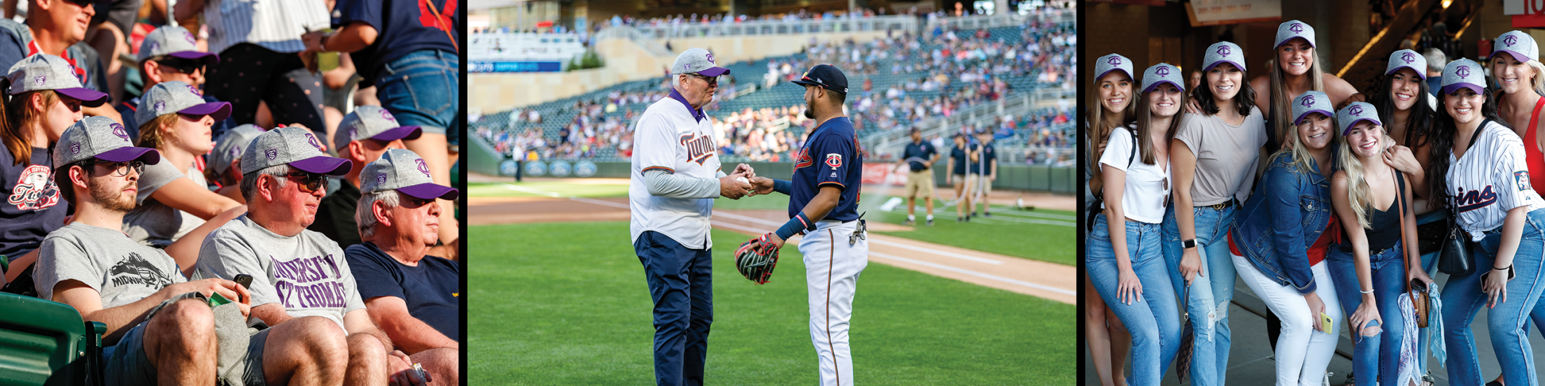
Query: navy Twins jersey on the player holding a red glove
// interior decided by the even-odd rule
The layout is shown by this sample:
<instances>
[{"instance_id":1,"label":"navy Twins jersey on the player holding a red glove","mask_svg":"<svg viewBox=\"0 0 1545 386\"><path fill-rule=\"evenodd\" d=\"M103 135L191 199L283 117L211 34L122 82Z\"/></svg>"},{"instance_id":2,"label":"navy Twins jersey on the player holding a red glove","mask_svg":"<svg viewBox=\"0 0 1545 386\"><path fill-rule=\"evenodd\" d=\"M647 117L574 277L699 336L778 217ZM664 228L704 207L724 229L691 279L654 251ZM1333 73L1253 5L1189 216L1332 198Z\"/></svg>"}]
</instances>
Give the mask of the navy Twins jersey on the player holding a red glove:
<instances>
[{"instance_id":1,"label":"navy Twins jersey on the player holding a red glove","mask_svg":"<svg viewBox=\"0 0 1545 386\"><path fill-rule=\"evenodd\" d=\"M837 207L823 219L854 221L859 218L859 188L864 179L864 159L859 156L859 141L854 137L848 117L827 119L799 148L794 164L794 179L789 187L788 216L805 210L805 205L820 193L820 187L842 188Z\"/></svg>"}]
</instances>

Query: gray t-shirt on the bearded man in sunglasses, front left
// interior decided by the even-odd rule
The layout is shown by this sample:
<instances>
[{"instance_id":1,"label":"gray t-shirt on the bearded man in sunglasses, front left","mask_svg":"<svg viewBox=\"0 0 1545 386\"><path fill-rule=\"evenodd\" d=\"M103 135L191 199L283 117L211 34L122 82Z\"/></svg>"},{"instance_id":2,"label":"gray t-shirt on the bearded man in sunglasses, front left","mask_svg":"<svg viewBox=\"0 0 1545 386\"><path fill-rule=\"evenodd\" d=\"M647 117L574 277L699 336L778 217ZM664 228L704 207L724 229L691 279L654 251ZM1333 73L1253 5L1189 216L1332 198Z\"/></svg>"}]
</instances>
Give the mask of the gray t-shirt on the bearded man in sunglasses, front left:
<instances>
[{"instance_id":1,"label":"gray t-shirt on the bearded man in sunglasses, front left","mask_svg":"<svg viewBox=\"0 0 1545 386\"><path fill-rule=\"evenodd\" d=\"M165 286L184 283L165 252L128 239L116 229L71 222L43 238L32 272L39 298L53 300L54 286L77 279L102 293L102 307L139 301Z\"/></svg>"}]
</instances>

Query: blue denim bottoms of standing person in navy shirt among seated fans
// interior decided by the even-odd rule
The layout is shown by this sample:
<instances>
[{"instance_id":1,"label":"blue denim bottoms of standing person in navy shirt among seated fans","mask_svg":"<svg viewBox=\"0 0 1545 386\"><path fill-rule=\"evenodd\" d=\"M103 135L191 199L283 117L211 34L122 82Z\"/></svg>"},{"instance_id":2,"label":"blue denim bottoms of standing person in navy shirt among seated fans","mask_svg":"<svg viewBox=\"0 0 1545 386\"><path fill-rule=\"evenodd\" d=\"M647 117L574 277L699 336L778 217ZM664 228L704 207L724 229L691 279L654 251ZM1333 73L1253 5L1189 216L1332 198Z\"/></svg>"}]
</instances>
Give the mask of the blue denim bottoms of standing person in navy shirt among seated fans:
<instances>
[{"instance_id":1,"label":"blue denim bottoms of standing person in navy shirt among seated fans","mask_svg":"<svg viewBox=\"0 0 1545 386\"><path fill-rule=\"evenodd\" d=\"M375 96L399 125L447 134L460 105L459 76L460 59L454 52L420 49L382 66Z\"/></svg>"}]
</instances>

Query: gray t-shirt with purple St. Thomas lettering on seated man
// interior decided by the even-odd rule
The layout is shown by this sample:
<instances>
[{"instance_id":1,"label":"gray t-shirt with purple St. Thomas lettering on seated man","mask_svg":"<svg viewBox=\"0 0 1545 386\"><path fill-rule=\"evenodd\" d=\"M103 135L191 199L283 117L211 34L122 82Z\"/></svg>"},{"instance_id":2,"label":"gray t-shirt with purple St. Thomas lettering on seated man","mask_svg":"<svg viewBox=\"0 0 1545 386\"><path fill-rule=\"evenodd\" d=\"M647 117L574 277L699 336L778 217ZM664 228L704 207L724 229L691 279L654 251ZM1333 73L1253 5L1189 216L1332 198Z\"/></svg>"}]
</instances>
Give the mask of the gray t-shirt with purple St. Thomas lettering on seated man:
<instances>
[{"instance_id":1,"label":"gray t-shirt with purple St. Thomas lettering on seated man","mask_svg":"<svg viewBox=\"0 0 1545 386\"><path fill-rule=\"evenodd\" d=\"M241 273L253 278L253 307L280 303L290 317L324 317L340 329L345 313L365 307L343 249L317 232L281 236L246 215L226 222L204 238L198 276L233 279Z\"/></svg>"}]
</instances>

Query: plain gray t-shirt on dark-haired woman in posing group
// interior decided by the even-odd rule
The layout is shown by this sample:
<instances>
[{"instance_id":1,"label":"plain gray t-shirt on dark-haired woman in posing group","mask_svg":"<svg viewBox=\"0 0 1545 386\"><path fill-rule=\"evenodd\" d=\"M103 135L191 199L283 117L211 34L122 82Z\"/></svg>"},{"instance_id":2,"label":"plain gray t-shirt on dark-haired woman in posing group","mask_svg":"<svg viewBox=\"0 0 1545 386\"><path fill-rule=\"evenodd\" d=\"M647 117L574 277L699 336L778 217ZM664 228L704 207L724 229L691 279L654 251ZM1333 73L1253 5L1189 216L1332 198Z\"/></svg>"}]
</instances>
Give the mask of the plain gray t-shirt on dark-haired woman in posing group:
<instances>
[{"instance_id":1,"label":"plain gray t-shirt on dark-haired woman in posing group","mask_svg":"<svg viewBox=\"0 0 1545 386\"><path fill-rule=\"evenodd\" d=\"M1183 114L1174 139L1196 154L1191 205L1224 204L1228 198L1242 204L1250 198L1256 162L1267 141L1259 108L1250 108L1242 125L1230 125L1217 116Z\"/></svg>"}]
</instances>

